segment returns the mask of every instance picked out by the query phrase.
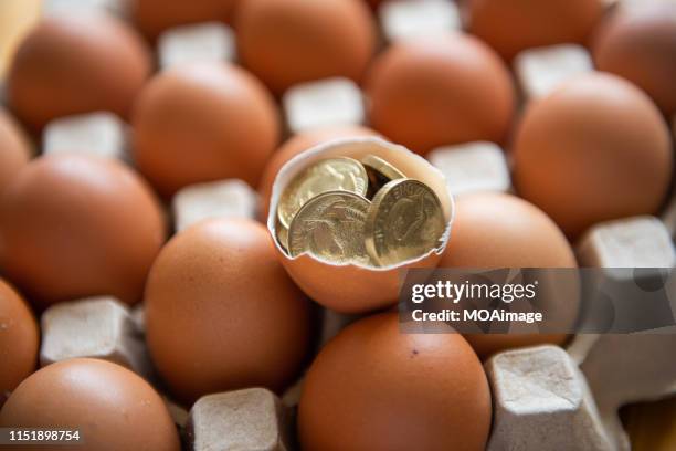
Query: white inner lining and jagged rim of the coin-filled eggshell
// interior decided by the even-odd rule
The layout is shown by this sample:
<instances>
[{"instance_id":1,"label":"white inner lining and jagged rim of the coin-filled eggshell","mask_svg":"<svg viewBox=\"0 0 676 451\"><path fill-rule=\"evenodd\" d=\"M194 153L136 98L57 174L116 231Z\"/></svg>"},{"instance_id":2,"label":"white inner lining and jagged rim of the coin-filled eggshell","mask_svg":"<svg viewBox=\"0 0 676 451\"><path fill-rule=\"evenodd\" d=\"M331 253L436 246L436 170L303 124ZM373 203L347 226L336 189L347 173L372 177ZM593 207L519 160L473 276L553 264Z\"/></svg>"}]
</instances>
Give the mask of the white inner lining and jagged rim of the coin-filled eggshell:
<instances>
[{"instance_id":1,"label":"white inner lining and jagged rim of the coin-filled eggshell","mask_svg":"<svg viewBox=\"0 0 676 451\"><path fill-rule=\"evenodd\" d=\"M279 197L286 186L291 182L291 180L302 170L313 165L315 161L323 160L326 158L332 157L350 157L357 160L361 160L367 155L374 155L377 157L383 158L389 161L398 169L400 169L406 177L420 180L426 183L439 197L443 212L444 219L446 220L446 229L441 239L441 244L436 249L432 249L430 252L425 253L415 259L406 260L394 265L389 266L369 266L356 263L347 263L347 265L353 265L358 268L367 268L373 271L389 271L393 268L403 266L405 264L415 263L424 260L432 253L441 254L446 244L448 243L448 239L451 238L451 228L453 226L453 217L455 213L455 207L453 202L453 196L448 190L448 186L443 174L430 165L427 160L423 157L413 154L411 150L406 149L403 146L399 146L392 143L389 143L384 139L377 137L362 137L362 138L342 138L335 139L327 143L323 143L311 149L304 151L293 159L288 160L277 174L275 178L275 182L273 185L273 191L271 197L271 208L270 213L267 216L267 229L271 231L273 237L276 237L276 223L275 216L277 214L277 203L279 202ZM285 254L288 259L295 260L302 255L309 255L314 260L319 262L340 266L346 265L346 263L336 263L331 261L327 261L324 259L319 259L316 255L310 253L304 253L292 258L288 253L282 248L282 245L277 242L276 239L273 240L275 245L279 251Z\"/></svg>"}]
</instances>

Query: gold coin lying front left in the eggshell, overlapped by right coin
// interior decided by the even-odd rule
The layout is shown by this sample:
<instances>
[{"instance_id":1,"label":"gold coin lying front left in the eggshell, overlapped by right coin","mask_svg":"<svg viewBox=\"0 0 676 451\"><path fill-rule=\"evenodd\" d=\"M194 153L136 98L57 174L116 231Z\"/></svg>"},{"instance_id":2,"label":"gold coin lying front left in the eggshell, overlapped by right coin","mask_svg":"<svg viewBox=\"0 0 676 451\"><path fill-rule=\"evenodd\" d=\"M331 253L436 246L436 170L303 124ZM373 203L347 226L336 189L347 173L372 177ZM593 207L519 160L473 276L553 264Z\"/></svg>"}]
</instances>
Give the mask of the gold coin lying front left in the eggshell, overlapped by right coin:
<instances>
[{"instance_id":1,"label":"gold coin lying front left in the eggshell, overlapped by right coin","mask_svg":"<svg viewBox=\"0 0 676 451\"><path fill-rule=\"evenodd\" d=\"M309 200L288 229L291 255L308 252L335 263L369 264L363 224L370 204L349 191L325 192Z\"/></svg>"}]
</instances>

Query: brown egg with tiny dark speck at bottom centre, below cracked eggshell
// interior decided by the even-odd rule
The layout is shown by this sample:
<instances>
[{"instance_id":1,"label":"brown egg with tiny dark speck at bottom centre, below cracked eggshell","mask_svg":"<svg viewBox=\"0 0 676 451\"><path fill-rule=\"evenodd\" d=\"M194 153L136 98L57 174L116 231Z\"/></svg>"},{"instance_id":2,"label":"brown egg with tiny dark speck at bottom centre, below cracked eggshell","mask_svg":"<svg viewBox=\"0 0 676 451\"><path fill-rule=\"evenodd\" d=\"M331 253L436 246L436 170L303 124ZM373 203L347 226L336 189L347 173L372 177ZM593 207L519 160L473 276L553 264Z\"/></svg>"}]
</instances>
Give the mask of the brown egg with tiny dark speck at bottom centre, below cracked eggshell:
<instances>
[{"instance_id":1,"label":"brown egg with tiny dark speck at bottom centre, below cracked eggshell","mask_svg":"<svg viewBox=\"0 0 676 451\"><path fill-rule=\"evenodd\" d=\"M398 314L348 326L309 368L304 450L483 450L490 390L460 334L402 334Z\"/></svg>"}]
</instances>

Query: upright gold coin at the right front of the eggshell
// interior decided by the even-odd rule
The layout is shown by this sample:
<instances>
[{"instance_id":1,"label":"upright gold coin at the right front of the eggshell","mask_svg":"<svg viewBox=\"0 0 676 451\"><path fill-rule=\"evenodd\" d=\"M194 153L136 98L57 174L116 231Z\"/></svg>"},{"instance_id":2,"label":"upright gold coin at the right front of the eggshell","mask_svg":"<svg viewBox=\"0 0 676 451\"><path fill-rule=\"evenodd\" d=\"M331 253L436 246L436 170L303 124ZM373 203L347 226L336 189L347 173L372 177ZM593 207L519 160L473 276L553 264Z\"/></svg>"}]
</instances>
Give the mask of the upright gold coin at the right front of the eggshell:
<instances>
[{"instance_id":1,"label":"upright gold coin at the right front of the eggshell","mask_svg":"<svg viewBox=\"0 0 676 451\"><path fill-rule=\"evenodd\" d=\"M378 191L367 216L367 252L380 265L411 260L437 248L445 228L441 201L430 187L392 180Z\"/></svg>"}]
</instances>

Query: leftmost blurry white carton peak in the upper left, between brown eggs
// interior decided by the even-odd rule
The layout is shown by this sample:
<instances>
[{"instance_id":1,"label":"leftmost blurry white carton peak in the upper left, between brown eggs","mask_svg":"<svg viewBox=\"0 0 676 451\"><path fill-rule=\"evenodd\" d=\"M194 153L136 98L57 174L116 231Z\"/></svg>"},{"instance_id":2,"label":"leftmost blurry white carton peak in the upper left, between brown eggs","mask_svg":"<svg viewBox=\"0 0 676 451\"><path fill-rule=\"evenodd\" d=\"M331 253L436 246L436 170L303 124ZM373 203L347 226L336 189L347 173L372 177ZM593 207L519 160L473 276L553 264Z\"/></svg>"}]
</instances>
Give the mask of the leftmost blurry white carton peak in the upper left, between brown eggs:
<instances>
[{"instance_id":1,"label":"leftmost blurry white carton peak in the upper left, between brown eggs","mask_svg":"<svg viewBox=\"0 0 676 451\"><path fill-rule=\"evenodd\" d=\"M78 153L130 161L128 125L113 113L96 112L50 122L43 153Z\"/></svg>"}]
</instances>

